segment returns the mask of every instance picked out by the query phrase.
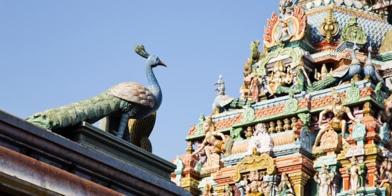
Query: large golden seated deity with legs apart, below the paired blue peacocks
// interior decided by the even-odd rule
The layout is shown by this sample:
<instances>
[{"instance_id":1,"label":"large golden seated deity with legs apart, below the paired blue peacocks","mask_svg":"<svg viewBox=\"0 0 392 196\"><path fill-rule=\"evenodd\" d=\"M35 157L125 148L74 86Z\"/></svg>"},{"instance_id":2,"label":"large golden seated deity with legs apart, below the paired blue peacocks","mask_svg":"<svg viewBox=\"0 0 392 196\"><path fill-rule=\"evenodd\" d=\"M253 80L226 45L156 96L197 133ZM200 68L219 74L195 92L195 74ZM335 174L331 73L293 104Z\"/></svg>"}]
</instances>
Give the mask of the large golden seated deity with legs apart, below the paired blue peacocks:
<instances>
[{"instance_id":1,"label":"large golden seated deity with legs apart, below the paired blue peacocks","mask_svg":"<svg viewBox=\"0 0 392 196\"><path fill-rule=\"evenodd\" d=\"M321 140L321 137L327 131L327 127L321 125L324 115L326 113L332 112L334 114L334 118L328 123L328 125L332 126L335 131L341 131L343 138L345 138L345 133L347 130L347 122L343 119L344 114L346 114L347 117L352 121L356 121L355 117L351 113L350 108L343 106L343 98L340 95L340 93L337 92L334 88L332 88L331 91L332 91L332 106L328 107L327 109L323 110L320 113L319 116L320 131L317 134L315 145L318 145L318 143Z\"/></svg>"}]
</instances>

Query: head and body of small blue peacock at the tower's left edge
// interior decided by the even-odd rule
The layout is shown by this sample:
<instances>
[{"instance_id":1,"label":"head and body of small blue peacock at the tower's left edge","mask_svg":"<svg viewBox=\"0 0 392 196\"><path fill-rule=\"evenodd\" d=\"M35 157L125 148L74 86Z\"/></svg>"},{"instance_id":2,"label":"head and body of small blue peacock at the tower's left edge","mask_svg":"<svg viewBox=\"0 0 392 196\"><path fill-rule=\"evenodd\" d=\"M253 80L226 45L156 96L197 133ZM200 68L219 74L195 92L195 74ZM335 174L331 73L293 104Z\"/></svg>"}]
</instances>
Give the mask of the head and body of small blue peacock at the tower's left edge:
<instances>
[{"instance_id":1,"label":"head and body of small blue peacock at the tower's left edge","mask_svg":"<svg viewBox=\"0 0 392 196\"><path fill-rule=\"evenodd\" d=\"M222 80L222 75L219 75L219 79L217 82L215 82L214 85L217 84L219 86L215 90L218 90L219 92L215 96L213 103L213 114L219 114L223 111L227 111L227 106L229 106L230 103L234 100L233 97L225 94L225 82Z\"/></svg>"}]
</instances>

